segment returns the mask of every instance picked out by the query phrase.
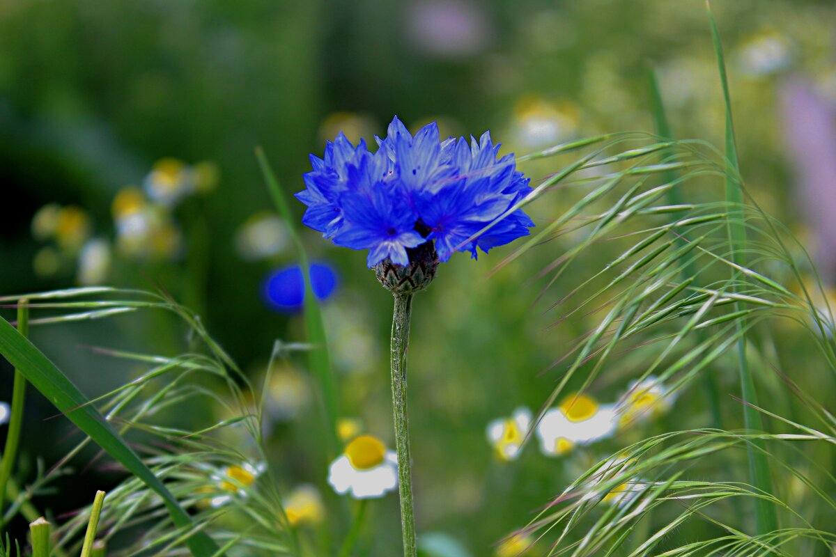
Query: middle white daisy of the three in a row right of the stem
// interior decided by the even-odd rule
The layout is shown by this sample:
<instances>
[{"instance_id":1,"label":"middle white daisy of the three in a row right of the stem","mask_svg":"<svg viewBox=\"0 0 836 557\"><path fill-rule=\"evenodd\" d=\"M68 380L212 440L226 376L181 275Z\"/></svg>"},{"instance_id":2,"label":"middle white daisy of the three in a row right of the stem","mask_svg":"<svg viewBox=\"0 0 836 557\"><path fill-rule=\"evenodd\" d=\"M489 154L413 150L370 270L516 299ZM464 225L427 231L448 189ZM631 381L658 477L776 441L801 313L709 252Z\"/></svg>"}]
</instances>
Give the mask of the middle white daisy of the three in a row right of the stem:
<instances>
[{"instance_id":1,"label":"middle white daisy of the three in a row right of the stem","mask_svg":"<svg viewBox=\"0 0 836 557\"><path fill-rule=\"evenodd\" d=\"M575 445L608 438L615 432L616 418L614 404L599 404L581 393L570 394L557 408L546 411L538 423L540 450L549 456L559 456Z\"/></svg>"}]
</instances>

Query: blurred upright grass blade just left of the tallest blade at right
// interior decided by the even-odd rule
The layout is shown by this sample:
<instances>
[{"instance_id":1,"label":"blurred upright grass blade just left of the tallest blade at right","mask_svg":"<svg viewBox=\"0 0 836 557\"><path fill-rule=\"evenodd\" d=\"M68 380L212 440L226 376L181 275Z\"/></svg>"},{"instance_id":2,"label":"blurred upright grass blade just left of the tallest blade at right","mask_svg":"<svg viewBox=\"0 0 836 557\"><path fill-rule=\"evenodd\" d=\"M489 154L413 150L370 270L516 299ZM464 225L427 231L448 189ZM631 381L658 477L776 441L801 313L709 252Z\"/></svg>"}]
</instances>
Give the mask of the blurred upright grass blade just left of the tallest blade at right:
<instances>
[{"instance_id":1,"label":"blurred upright grass blade just left of the tallest blade at right","mask_svg":"<svg viewBox=\"0 0 836 557\"><path fill-rule=\"evenodd\" d=\"M648 78L648 89L650 90L650 109L653 113L653 119L656 127L656 133L659 134L663 139L674 139L673 131L670 129L670 124L668 123L667 116L665 114L665 104L662 101L662 95L659 89L659 82L656 79L656 73L654 69L650 66L647 68L647 78ZM673 149L667 147L662 149L662 160L668 160L671 158L673 154ZM668 170L664 170L662 172L662 180L665 180L666 184L675 184L679 179L679 173L670 168ZM681 205L685 203L685 196L682 195L681 187L674 187L670 188L667 191L667 197L670 202L670 205ZM688 232L683 230L679 235L676 236L676 243L678 246L686 246L688 243ZM696 262L693 259L688 257L683 257L684 263L682 265L681 277L683 280L687 281L691 277L695 278L694 286L700 286L696 283L696 276L698 275L698 271L696 269ZM703 342L706 340L706 332L704 329L698 329L696 331L697 335L697 342ZM702 374L702 385L703 389L706 392L706 398L708 399L708 406L711 409L711 422L713 423L715 428L722 428L722 412L720 406L720 391L717 388L717 382L714 375L711 374L710 371L706 370Z\"/></svg>"}]
</instances>

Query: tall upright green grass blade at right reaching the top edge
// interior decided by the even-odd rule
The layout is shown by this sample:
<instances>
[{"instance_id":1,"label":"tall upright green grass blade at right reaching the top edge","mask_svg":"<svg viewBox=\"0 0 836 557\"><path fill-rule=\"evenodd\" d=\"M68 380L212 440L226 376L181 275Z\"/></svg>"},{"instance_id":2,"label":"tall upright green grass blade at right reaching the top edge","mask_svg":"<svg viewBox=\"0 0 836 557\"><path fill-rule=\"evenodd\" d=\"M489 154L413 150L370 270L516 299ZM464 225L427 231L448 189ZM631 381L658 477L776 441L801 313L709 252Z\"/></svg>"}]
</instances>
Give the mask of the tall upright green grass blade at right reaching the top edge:
<instances>
[{"instance_id":1,"label":"tall upright green grass blade at right reaching the top edge","mask_svg":"<svg viewBox=\"0 0 836 557\"><path fill-rule=\"evenodd\" d=\"M746 249L746 224L743 220L743 193L740 182L740 165L737 160L737 144L734 133L734 121L732 119L732 102L729 95L728 79L726 78L726 63L723 58L723 48L720 42L720 33L714 16L711 13L711 4L706 0L708 19L711 23L711 35L714 38L717 65L720 72L720 83L723 89L723 100L726 104L726 201L729 202L729 243L732 248L732 261L735 265L745 265L744 251ZM732 283L732 289L735 289ZM735 303L734 311L740 311L740 303ZM737 341L737 356L739 360L739 372L741 392L743 398L743 420L747 430L762 431L763 422L761 413L757 410L757 393L755 382L752 377L752 370L749 368L746 357L745 316L737 320L737 332L740 333ZM749 474L752 485L760 489L764 494L772 496L772 474L769 471L767 451L762 439L753 438L751 444L747 444L749 458ZM755 500L755 524L758 535L769 534L778 528L775 506L767 499Z\"/></svg>"}]
</instances>

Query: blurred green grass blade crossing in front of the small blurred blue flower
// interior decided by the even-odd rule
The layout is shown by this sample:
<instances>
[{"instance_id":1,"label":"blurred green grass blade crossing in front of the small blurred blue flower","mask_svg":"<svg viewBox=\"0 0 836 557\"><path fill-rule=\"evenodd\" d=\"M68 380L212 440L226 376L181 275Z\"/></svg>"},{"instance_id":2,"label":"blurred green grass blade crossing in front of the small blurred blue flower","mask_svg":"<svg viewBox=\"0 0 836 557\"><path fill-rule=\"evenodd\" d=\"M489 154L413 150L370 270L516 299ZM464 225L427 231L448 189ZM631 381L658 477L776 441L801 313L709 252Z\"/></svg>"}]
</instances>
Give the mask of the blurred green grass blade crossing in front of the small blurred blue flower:
<instances>
[{"instance_id":1,"label":"blurred green grass blade crossing in front of the small blurred blue flower","mask_svg":"<svg viewBox=\"0 0 836 557\"><path fill-rule=\"evenodd\" d=\"M314 296L314 291L311 287L310 281L310 267L308 265L308 254L301 236L299 235L298 225L296 224L296 217L293 211L290 210L286 195L279 185L273 169L270 166L267 156L263 149L256 149L256 157L258 165L260 165L264 180L267 182L270 196L273 198L273 203L276 209L288 227L288 233L293 239L293 244L296 246L298 252L299 263L302 266L305 276L305 297L304 297L304 316L305 316L305 332L308 337L308 342L313 347L308 351L309 364L311 371L319 381L319 386L322 389L322 395L325 407L325 419L330 438L331 453L336 453L339 447L339 436L337 435L337 418L339 417L339 397L337 395L337 384L334 379L334 372L331 369L331 357L328 351L328 337L325 334L325 325L322 318L322 311L319 308L319 302ZM329 455L333 456L333 455Z\"/></svg>"}]
</instances>

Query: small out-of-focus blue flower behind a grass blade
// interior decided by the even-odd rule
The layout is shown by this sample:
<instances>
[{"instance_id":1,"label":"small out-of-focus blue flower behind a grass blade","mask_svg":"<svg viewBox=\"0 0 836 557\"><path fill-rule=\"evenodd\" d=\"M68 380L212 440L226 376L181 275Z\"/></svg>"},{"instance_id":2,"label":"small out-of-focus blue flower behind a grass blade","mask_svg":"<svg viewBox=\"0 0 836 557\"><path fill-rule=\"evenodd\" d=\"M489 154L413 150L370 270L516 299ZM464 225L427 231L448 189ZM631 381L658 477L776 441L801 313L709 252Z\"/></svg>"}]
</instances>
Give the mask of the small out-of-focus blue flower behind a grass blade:
<instances>
[{"instance_id":1,"label":"small out-of-focus blue flower behind a grass blade","mask_svg":"<svg viewBox=\"0 0 836 557\"><path fill-rule=\"evenodd\" d=\"M328 263L311 263L311 288L319 301L327 300L338 286L337 271ZM263 295L268 306L283 313L302 309L305 284L302 267L286 266L271 271L264 281Z\"/></svg>"}]
</instances>

